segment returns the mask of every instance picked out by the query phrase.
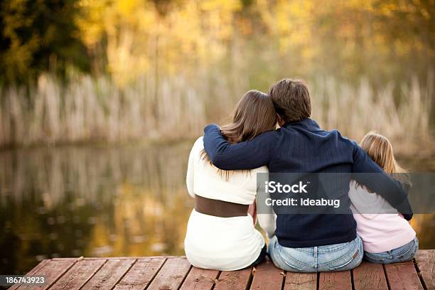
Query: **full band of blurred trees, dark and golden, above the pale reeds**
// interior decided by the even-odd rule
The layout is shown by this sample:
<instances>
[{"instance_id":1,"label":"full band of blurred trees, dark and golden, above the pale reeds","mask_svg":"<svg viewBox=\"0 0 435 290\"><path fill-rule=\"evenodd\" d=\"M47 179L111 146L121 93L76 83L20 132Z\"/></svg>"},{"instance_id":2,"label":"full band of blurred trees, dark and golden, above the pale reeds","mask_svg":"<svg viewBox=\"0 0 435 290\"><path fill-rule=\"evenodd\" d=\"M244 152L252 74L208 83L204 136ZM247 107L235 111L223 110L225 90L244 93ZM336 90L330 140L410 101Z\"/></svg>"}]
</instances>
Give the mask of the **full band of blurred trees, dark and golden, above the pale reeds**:
<instances>
[{"instance_id":1,"label":"full band of blurred trees, dark and golden, above the pale reeds","mask_svg":"<svg viewBox=\"0 0 435 290\"><path fill-rule=\"evenodd\" d=\"M257 55L262 65L269 63L264 73L272 75L333 72L346 79L367 75L379 83L407 80L434 64L434 5L433 0L5 0L0 77L26 82L48 71L65 75L71 67L109 74L127 85L150 70L186 73ZM240 46L246 48L242 55L234 51Z\"/></svg>"}]
</instances>

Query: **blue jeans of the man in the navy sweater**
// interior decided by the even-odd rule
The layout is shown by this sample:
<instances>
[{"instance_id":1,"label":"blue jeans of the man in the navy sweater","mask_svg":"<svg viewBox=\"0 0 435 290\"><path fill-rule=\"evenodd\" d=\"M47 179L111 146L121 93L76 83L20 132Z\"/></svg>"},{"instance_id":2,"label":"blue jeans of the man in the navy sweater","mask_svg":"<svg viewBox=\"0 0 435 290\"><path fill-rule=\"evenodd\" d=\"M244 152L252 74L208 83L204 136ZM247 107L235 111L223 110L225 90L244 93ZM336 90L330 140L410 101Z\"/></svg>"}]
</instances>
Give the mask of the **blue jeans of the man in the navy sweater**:
<instances>
[{"instance_id":1,"label":"blue jeans of the man in the navy sweater","mask_svg":"<svg viewBox=\"0 0 435 290\"><path fill-rule=\"evenodd\" d=\"M283 247L276 237L269 242L269 255L275 266L289 272L345 271L358 267L363 254L360 237L341 244L304 248Z\"/></svg>"}]
</instances>

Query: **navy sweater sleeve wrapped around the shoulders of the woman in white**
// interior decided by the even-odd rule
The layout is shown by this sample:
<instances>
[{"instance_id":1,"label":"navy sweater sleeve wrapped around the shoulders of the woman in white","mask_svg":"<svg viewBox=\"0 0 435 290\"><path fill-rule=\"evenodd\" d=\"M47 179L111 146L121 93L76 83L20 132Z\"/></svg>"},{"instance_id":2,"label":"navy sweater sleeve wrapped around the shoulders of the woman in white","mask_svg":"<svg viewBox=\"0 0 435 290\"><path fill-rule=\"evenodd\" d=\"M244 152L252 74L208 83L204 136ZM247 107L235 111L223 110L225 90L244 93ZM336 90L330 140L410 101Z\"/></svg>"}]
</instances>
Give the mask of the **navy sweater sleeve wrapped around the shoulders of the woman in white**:
<instances>
[{"instance_id":1,"label":"navy sweater sleeve wrapped around the shoulders of the woman in white","mask_svg":"<svg viewBox=\"0 0 435 290\"><path fill-rule=\"evenodd\" d=\"M204 128L204 149L213 164L222 170L243 170L267 166L279 135L267 131L254 139L237 144L228 143L216 124Z\"/></svg>"}]
</instances>

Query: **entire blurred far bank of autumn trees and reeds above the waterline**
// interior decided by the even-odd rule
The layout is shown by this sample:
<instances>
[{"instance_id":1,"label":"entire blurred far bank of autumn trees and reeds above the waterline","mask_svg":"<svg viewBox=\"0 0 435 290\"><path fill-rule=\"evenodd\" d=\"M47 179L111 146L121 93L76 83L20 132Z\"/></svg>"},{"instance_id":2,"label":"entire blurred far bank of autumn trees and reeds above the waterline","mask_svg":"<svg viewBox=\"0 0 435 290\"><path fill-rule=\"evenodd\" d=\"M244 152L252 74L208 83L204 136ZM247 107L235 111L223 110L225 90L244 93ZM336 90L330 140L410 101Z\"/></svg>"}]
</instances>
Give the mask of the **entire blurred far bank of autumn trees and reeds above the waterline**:
<instances>
[{"instance_id":1,"label":"entire blurred far bank of autumn trees and reeds above the waterline","mask_svg":"<svg viewBox=\"0 0 435 290\"><path fill-rule=\"evenodd\" d=\"M323 127L355 139L370 129L408 143L428 139L434 7L434 0L5 0L0 146L190 138L227 117L243 92L295 76L308 80ZM346 127L351 117L356 133Z\"/></svg>"}]
</instances>

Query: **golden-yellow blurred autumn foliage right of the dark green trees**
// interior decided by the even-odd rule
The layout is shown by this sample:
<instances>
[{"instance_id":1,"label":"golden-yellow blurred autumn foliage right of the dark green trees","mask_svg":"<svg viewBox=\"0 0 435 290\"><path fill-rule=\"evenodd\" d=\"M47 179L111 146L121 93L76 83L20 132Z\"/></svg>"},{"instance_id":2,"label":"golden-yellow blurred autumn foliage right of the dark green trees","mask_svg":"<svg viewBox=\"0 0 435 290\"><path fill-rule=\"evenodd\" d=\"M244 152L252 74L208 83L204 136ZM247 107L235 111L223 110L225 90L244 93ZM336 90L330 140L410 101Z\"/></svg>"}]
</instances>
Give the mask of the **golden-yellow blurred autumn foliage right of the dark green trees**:
<instances>
[{"instance_id":1,"label":"golden-yellow blurred autumn foliage right of the dark green trees","mask_svg":"<svg viewBox=\"0 0 435 290\"><path fill-rule=\"evenodd\" d=\"M230 56L233 43L247 46L249 38L259 36L279 56L298 55L306 68L327 57L330 48L337 62L387 56L392 43L395 53L409 55L425 44L418 37L393 41L390 23L400 14L415 26L431 17L423 5L395 0L257 0L249 9L240 0L178 0L168 1L163 12L156 5L151 0L80 1L85 11L77 18L80 37L91 49L107 40L107 69L117 85L145 74L157 82L163 75L213 67Z\"/></svg>"}]
</instances>

